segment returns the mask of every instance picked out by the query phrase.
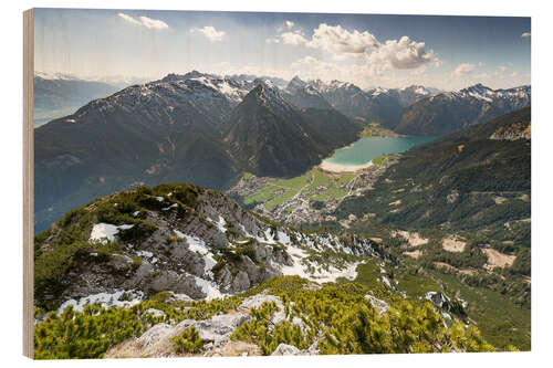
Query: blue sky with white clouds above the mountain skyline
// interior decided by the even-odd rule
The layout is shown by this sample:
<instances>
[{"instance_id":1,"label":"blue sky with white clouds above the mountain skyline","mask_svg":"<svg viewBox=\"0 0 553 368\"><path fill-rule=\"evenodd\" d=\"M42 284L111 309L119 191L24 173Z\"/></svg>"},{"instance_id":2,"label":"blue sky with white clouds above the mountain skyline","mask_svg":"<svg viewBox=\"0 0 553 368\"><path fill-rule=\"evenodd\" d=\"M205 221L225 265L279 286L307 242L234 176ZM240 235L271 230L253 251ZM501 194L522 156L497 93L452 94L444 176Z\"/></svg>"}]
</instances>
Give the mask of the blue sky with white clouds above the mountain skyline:
<instances>
[{"instance_id":1,"label":"blue sky with white clouds above the mountain skyline","mask_svg":"<svg viewBox=\"0 0 553 368\"><path fill-rule=\"evenodd\" d=\"M458 90L530 84L530 18L35 10L35 70L190 70Z\"/></svg>"}]
</instances>

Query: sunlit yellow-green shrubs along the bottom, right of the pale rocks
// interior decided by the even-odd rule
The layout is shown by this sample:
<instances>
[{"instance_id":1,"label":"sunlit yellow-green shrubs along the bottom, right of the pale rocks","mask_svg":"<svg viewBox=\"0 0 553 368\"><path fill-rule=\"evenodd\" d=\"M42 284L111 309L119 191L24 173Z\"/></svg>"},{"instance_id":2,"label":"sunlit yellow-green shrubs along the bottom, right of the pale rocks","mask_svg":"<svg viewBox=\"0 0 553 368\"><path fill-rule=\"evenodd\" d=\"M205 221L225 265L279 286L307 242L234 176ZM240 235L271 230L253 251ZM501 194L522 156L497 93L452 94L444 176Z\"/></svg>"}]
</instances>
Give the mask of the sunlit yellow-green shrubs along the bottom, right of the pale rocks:
<instances>
[{"instance_id":1,"label":"sunlit yellow-green shrubs along the bottom, right of the pale rocks","mask_svg":"<svg viewBox=\"0 0 553 368\"><path fill-rule=\"evenodd\" d=\"M302 324L290 320L274 324L276 305L264 303L250 311L252 319L239 326L231 339L255 344L264 355L272 354L282 343L306 349L314 341L321 354L492 350L476 327L465 328L459 322L453 324L456 329L448 329L430 303L392 298L390 306L380 315L364 297L367 290L362 285L328 284L306 290L305 281L300 281L300 277L276 277L255 292L264 288L279 295L284 314Z\"/></svg>"}]
</instances>

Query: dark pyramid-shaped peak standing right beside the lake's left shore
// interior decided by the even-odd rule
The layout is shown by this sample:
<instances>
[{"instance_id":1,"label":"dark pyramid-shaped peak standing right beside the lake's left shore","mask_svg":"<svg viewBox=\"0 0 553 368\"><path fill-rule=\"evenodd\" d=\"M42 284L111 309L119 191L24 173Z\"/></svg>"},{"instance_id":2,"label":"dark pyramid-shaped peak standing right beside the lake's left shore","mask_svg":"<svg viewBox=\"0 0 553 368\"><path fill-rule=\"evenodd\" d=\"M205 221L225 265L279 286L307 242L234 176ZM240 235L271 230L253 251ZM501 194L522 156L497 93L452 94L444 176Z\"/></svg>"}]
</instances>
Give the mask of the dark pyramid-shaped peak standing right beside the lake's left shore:
<instances>
[{"instance_id":1,"label":"dark pyramid-shaped peak standing right beside the lake's left shore","mask_svg":"<svg viewBox=\"0 0 553 368\"><path fill-rule=\"evenodd\" d=\"M225 141L243 170L290 177L357 138L361 126L334 109L299 109L270 83L259 82L232 111Z\"/></svg>"}]
</instances>

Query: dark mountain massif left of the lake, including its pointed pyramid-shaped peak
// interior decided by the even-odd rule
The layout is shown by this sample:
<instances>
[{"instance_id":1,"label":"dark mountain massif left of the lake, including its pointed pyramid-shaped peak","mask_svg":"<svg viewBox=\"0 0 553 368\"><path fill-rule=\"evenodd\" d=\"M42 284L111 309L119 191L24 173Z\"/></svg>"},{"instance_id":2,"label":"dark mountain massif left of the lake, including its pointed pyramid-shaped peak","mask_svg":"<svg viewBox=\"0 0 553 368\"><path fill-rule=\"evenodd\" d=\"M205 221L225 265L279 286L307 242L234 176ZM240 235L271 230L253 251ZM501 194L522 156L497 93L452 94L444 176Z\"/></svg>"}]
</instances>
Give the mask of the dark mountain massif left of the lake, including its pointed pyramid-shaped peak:
<instances>
[{"instance_id":1,"label":"dark mountain massif left of the lake, including its pointed pyramid-shaped peak","mask_svg":"<svg viewBox=\"0 0 553 368\"><path fill-rule=\"evenodd\" d=\"M38 229L136 185L220 189L243 169L298 175L361 128L334 109L300 109L262 80L192 71L133 85L35 129Z\"/></svg>"}]
</instances>

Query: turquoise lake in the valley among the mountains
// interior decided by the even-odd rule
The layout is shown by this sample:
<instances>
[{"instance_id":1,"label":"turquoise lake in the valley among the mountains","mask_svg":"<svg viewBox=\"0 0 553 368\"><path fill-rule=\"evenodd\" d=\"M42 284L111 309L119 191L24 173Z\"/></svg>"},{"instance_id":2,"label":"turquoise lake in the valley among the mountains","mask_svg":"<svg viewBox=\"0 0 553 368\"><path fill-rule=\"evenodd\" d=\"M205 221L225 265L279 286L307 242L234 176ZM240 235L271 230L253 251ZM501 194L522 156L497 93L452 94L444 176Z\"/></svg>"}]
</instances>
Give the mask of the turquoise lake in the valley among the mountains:
<instances>
[{"instance_id":1,"label":"turquoise lake in the valley among the mountains","mask_svg":"<svg viewBox=\"0 0 553 368\"><path fill-rule=\"evenodd\" d=\"M334 153L326 162L337 165L365 165L380 155L405 153L409 148L429 143L437 136L366 137Z\"/></svg>"}]
</instances>

